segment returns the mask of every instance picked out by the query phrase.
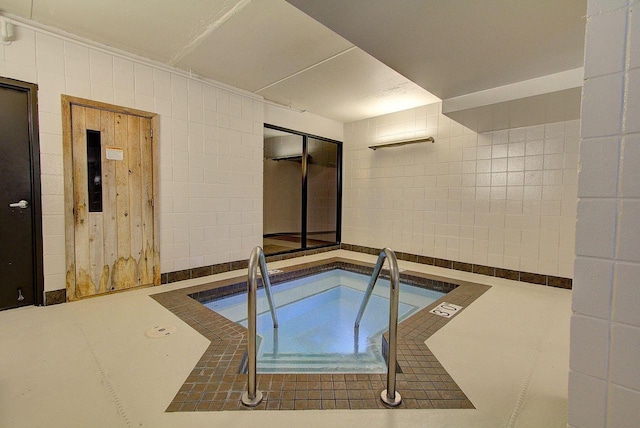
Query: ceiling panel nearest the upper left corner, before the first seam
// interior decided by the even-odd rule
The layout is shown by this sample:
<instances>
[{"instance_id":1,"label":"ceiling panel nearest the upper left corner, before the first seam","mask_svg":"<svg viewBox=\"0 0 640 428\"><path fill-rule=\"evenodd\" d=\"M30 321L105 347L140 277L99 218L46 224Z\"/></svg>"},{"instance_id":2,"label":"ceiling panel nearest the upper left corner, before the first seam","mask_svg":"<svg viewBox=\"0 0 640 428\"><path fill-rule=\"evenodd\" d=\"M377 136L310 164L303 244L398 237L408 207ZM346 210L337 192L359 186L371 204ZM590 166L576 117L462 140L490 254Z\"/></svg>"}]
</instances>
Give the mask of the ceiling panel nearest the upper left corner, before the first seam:
<instances>
[{"instance_id":1,"label":"ceiling panel nearest the upper left corner, before the first seam","mask_svg":"<svg viewBox=\"0 0 640 428\"><path fill-rule=\"evenodd\" d=\"M108 46L169 63L211 22L220 19L238 2L239 0L34 0L31 19Z\"/></svg>"}]
</instances>

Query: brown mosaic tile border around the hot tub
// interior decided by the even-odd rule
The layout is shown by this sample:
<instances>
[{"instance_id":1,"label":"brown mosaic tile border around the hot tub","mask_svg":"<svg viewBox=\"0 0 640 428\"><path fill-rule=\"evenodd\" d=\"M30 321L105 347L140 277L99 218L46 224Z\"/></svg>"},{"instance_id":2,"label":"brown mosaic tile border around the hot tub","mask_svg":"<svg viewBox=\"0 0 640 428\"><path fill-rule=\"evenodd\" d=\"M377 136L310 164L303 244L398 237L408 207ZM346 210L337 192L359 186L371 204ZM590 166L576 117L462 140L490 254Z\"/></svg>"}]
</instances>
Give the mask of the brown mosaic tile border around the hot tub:
<instances>
[{"instance_id":1,"label":"brown mosaic tile border around the hot tub","mask_svg":"<svg viewBox=\"0 0 640 428\"><path fill-rule=\"evenodd\" d=\"M272 278L274 286L291 277L305 276L336 267L370 271L372 264L333 258L283 268ZM429 311L446 301L468 307L490 287L465 281L405 271L417 281L454 283L443 298L398 325L396 390L402 396L397 409L469 409L467 396L424 344L450 319ZM437 288L437 287L435 287ZM241 402L247 375L238 373L247 349L246 328L202 305L200 300L246 290L246 276L158 293L151 297L211 341L191 374L167 408L167 412L221 410L305 410L388 408L380 400L386 389L386 374L260 374L257 388L263 401L253 409ZM246 291L245 291L246 292Z\"/></svg>"}]
</instances>

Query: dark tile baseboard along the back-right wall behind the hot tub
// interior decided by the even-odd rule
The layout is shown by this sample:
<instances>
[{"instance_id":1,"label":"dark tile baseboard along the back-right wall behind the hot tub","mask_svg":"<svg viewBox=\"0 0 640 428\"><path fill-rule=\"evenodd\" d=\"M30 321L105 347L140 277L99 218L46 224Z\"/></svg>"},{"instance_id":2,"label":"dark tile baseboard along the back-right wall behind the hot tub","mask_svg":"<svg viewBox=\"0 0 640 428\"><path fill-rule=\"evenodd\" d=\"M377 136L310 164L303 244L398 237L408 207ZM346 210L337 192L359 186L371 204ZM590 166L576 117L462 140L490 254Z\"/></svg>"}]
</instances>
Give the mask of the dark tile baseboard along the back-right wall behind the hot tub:
<instances>
[{"instance_id":1,"label":"dark tile baseboard along the back-right wall behind the hot tub","mask_svg":"<svg viewBox=\"0 0 640 428\"><path fill-rule=\"evenodd\" d=\"M341 244L343 250L355 251L358 253L372 254L377 256L382 248L365 247L362 245ZM418 254L396 252L398 260L421 263L453 270L477 273L480 275L495 276L498 278L511 279L513 281L528 282L531 284L545 285L549 287L565 288L571 290L573 280L559 276L543 275L532 272L521 272L516 270L502 269L493 266L476 265L472 263L458 262L455 260L439 259L436 257L421 256Z\"/></svg>"}]
</instances>

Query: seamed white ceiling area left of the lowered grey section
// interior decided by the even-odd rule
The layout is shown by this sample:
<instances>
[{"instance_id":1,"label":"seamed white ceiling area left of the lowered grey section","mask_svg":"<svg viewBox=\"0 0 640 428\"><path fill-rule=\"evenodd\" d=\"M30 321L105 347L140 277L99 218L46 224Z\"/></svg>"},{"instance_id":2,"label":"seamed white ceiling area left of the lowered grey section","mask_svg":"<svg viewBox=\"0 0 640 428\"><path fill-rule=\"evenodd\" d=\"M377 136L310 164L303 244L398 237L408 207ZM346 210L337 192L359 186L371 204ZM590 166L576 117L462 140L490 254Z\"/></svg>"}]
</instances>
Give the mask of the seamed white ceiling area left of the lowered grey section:
<instances>
[{"instance_id":1,"label":"seamed white ceiling area left of the lowered grey section","mask_svg":"<svg viewBox=\"0 0 640 428\"><path fill-rule=\"evenodd\" d=\"M0 0L0 11L340 122L438 100L284 0Z\"/></svg>"}]
</instances>

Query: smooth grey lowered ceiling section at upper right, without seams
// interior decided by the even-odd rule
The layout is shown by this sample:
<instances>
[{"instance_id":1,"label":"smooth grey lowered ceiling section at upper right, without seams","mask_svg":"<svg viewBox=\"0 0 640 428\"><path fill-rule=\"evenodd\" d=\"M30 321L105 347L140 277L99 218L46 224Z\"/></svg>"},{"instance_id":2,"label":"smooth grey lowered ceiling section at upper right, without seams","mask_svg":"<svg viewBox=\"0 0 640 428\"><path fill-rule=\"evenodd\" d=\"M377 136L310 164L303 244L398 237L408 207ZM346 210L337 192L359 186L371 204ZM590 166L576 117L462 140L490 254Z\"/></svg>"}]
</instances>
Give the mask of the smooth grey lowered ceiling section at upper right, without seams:
<instances>
[{"instance_id":1,"label":"smooth grey lowered ceiling section at upper right, without seams","mask_svg":"<svg viewBox=\"0 0 640 428\"><path fill-rule=\"evenodd\" d=\"M287 0L440 98L581 67L585 0Z\"/></svg>"}]
</instances>

